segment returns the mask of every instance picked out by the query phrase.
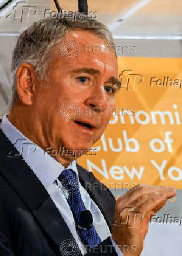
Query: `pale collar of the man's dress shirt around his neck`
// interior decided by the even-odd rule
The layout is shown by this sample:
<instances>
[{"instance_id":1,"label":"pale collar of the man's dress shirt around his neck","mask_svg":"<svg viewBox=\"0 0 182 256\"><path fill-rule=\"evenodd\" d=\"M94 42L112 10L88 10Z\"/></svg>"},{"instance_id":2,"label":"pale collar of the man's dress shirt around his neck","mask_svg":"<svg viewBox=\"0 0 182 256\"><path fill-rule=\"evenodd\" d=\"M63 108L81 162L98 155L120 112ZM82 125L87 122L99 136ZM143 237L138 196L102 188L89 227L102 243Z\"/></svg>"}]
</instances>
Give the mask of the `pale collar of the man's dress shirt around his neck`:
<instances>
[{"instance_id":1,"label":"pale collar of the man's dress shirt around his neck","mask_svg":"<svg viewBox=\"0 0 182 256\"><path fill-rule=\"evenodd\" d=\"M46 190L65 169L72 169L77 174L76 161L72 161L66 168L56 159L47 154L41 147L25 137L8 120L6 115L0 123L0 129L8 137L9 141L16 147L28 166L42 182ZM78 174L77 174L78 177Z\"/></svg>"}]
</instances>

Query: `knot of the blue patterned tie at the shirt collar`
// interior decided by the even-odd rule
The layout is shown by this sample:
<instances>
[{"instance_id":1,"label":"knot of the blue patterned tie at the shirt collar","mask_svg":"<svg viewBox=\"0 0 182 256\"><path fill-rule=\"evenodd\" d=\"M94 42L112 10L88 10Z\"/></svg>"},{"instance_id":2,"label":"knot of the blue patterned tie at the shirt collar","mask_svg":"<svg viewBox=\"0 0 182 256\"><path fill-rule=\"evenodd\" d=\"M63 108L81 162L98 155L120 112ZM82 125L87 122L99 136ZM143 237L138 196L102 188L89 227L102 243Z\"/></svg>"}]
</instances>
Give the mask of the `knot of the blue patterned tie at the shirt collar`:
<instances>
[{"instance_id":1,"label":"knot of the blue patterned tie at the shirt collar","mask_svg":"<svg viewBox=\"0 0 182 256\"><path fill-rule=\"evenodd\" d=\"M62 171L58 179L70 196L79 190L77 176L72 169Z\"/></svg>"}]
</instances>

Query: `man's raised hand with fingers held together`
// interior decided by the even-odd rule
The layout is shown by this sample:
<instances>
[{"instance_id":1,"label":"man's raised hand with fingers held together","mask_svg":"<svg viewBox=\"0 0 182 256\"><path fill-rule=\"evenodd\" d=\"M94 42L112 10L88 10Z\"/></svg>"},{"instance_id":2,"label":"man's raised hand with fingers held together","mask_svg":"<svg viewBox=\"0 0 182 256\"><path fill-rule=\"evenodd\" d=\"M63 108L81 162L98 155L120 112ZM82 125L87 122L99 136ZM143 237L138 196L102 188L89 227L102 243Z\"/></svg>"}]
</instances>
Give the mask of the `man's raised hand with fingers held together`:
<instances>
[{"instance_id":1,"label":"man's raised hand with fingers held together","mask_svg":"<svg viewBox=\"0 0 182 256\"><path fill-rule=\"evenodd\" d=\"M116 200L112 233L115 241L135 244L142 250L151 216L159 211L167 199L176 195L176 189L139 184ZM138 254L139 255L139 254Z\"/></svg>"}]
</instances>

